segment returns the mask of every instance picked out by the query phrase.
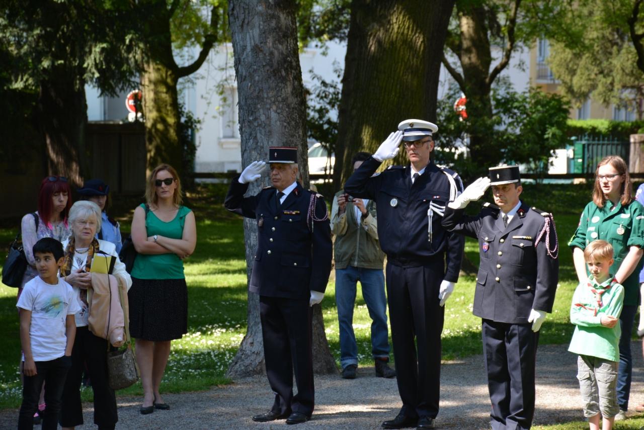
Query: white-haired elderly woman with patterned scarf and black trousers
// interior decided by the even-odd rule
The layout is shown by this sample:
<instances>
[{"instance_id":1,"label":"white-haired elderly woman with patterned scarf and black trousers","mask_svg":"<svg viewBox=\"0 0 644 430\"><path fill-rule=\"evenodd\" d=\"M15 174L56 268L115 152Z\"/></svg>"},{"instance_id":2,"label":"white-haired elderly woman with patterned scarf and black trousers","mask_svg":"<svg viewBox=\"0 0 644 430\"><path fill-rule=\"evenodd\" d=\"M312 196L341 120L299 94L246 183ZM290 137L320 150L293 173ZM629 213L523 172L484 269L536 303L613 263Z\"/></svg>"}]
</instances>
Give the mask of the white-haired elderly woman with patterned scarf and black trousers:
<instances>
[{"instance_id":1,"label":"white-haired elderly woman with patterned scarf and black trousers","mask_svg":"<svg viewBox=\"0 0 644 430\"><path fill-rule=\"evenodd\" d=\"M61 277L73 287L81 312L75 315L76 339L71 351L71 368L62 392L60 423L63 429L73 429L83 424L80 388L82 369L86 363L94 391L94 423L100 430L111 430L118 416L114 390L108 384L106 351L109 341L95 335L89 328L88 290L92 288L95 275L90 273L93 257L107 254L115 259L111 276L126 290L132 285L132 279L118 259L115 245L95 238L101 227L101 210L96 203L86 200L74 203L70 210L70 225L70 239L62 243L65 256Z\"/></svg>"}]
</instances>

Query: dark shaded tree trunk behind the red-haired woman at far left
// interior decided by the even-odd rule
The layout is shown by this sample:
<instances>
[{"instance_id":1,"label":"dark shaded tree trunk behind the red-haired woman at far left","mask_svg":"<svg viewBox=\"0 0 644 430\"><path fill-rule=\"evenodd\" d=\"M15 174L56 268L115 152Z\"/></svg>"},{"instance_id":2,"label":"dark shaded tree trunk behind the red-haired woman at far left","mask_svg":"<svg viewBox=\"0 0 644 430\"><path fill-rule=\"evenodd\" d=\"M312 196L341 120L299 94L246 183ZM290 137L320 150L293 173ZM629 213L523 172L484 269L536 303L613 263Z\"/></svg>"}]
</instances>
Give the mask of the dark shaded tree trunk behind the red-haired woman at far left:
<instances>
[{"instance_id":1,"label":"dark shaded tree trunk behind the red-haired woman at far left","mask_svg":"<svg viewBox=\"0 0 644 430\"><path fill-rule=\"evenodd\" d=\"M46 144L48 174L66 176L75 185L90 173L85 147L87 102L78 77L77 71L61 68L41 80L34 116Z\"/></svg>"}]
</instances>

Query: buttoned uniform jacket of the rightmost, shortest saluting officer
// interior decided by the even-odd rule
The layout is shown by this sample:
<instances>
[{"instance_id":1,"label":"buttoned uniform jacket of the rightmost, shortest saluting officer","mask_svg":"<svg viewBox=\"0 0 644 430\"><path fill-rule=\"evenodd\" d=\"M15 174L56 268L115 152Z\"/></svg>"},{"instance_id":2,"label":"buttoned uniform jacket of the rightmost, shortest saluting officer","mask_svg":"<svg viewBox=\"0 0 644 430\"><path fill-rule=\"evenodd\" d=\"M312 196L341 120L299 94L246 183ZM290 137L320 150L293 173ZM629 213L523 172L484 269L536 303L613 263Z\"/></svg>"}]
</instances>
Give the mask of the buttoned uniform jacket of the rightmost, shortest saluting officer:
<instances>
[{"instance_id":1,"label":"buttoned uniform jacket of the rightmost, shortest saluting officer","mask_svg":"<svg viewBox=\"0 0 644 430\"><path fill-rule=\"evenodd\" d=\"M546 245L550 250L556 246L554 223L550 225L549 243L545 234L536 243L550 214L522 202L506 227L499 207L487 205L477 216L465 216L465 209L447 207L442 224L450 231L478 239L480 266L474 315L499 323L526 324L532 308L553 310L559 260L548 255Z\"/></svg>"}]
</instances>

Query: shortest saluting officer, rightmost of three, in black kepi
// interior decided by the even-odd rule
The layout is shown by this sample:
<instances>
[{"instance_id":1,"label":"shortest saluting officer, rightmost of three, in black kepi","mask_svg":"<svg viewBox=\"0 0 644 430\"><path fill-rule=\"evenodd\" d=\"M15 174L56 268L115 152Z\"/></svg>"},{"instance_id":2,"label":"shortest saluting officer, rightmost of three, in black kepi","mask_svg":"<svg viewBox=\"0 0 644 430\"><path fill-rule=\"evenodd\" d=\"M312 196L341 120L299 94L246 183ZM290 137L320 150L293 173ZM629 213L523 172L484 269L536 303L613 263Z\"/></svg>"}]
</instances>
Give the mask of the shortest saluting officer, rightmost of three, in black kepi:
<instances>
[{"instance_id":1,"label":"shortest saluting officer, rightmost of three, in black kepi","mask_svg":"<svg viewBox=\"0 0 644 430\"><path fill-rule=\"evenodd\" d=\"M496 205L465 216L469 201L489 185ZM535 415L535 359L539 328L552 312L559 279L558 243L551 214L519 200L516 165L492 167L448 204L442 225L478 239L480 268L474 315L482 318L494 430L529 429Z\"/></svg>"}]
</instances>

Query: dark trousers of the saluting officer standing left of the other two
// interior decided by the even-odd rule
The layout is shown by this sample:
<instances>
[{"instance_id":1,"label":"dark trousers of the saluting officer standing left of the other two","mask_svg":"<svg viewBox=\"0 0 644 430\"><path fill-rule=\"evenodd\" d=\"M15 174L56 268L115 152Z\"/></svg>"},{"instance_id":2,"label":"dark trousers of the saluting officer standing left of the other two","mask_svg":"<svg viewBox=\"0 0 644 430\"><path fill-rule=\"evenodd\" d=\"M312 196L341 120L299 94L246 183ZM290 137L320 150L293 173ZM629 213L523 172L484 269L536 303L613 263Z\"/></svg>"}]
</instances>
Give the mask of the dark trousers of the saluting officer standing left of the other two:
<instances>
[{"instance_id":1,"label":"dark trousers of the saluting officer standing left of the other two","mask_svg":"<svg viewBox=\"0 0 644 430\"><path fill-rule=\"evenodd\" d=\"M275 393L271 411L311 416L314 407L311 308L307 299L260 295L266 376ZM293 373L298 393L293 395Z\"/></svg>"}]
</instances>

